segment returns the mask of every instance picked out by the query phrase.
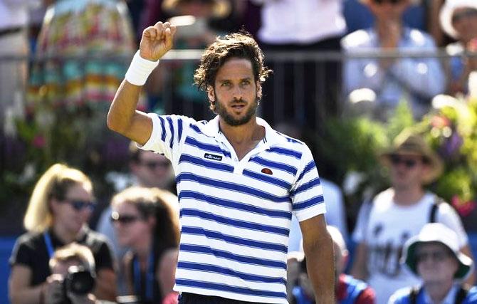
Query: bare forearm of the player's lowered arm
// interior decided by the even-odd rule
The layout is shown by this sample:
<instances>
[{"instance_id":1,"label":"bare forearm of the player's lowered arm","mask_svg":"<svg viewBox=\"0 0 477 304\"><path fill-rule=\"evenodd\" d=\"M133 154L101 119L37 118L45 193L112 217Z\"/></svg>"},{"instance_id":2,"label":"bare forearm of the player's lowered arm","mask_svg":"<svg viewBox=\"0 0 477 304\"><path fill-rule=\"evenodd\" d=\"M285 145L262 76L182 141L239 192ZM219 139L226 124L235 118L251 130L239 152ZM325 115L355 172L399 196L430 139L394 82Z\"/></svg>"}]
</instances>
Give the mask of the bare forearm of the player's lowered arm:
<instances>
[{"instance_id":1,"label":"bare forearm of the player's lowered arm","mask_svg":"<svg viewBox=\"0 0 477 304\"><path fill-rule=\"evenodd\" d=\"M303 249L316 303L335 304L335 259L330 234L325 231L315 242L303 244Z\"/></svg>"}]
</instances>

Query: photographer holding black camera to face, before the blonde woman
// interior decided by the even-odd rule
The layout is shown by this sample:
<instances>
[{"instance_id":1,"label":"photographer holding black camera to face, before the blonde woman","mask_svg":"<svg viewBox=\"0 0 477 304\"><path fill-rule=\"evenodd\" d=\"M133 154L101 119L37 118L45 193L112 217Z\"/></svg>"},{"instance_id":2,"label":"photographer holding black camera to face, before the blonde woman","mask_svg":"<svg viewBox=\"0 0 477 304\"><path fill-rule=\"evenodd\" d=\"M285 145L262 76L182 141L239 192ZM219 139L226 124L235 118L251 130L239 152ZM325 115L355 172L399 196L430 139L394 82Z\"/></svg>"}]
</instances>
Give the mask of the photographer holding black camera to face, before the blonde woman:
<instances>
[{"instance_id":1,"label":"photographer holding black camera to face, before the blonde woman","mask_svg":"<svg viewBox=\"0 0 477 304\"><path fill-rule=\"evenodd\" d=\"M53 254L50 268L52 274L47 278L43 303L99 303L91 293L96 276L90 248L78 243L63 246Z\"/></svg>"}]
</instances>

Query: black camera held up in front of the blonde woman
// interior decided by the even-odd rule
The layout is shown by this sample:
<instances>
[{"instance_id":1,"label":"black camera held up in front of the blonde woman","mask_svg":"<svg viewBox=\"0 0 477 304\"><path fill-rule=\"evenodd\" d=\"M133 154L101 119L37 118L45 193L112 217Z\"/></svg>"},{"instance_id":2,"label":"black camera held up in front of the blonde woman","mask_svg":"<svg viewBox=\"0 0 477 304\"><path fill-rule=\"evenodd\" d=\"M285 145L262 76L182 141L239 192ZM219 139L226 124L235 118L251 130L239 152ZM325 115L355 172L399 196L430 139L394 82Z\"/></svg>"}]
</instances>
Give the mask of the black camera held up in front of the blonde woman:
<instances>
[{"instance_id":1,"label":"black camera held up in front of the blonde woman","mask_svg":"<svg viewBox=\"0 0 477 304\"><path fill-rule=\"evenodd\" d=\"M63 281L63 297L61 304L70 304L68 293L87 295L95 288L95 275L83 266L70 266L68 275Z\"/></svg>"}]
</instances>

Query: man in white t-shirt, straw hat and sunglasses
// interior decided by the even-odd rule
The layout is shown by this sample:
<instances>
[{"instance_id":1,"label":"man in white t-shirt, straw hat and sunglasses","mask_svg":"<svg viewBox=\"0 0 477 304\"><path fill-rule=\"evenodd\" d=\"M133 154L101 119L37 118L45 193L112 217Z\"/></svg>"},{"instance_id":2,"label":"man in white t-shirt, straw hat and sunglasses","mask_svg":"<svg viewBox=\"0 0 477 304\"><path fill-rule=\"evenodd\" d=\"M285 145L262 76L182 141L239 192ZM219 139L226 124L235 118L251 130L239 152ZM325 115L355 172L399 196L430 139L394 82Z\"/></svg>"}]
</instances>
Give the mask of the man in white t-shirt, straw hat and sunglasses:
<instances>
[{"instance_id":1,"label":"man in white t-shirt, straw hat and sunglasses","mask_svg":"<svg viewBox=\"0 0 477 304\"><path fill-rule=\"evenodd\" d=\"M366 280L376 290L377 303L384 304L399 288L419 284L399 258L404 243L429 221L449 226L458 235L461 251L468 256L471 251L456 211L449 204L439 204L439 197L424 189L442 172L441 160L424 140L403 132L379 159L389 168L392 187L360 210L352 236L358 245L351 274Z\"/></svg>"}]
</instances>

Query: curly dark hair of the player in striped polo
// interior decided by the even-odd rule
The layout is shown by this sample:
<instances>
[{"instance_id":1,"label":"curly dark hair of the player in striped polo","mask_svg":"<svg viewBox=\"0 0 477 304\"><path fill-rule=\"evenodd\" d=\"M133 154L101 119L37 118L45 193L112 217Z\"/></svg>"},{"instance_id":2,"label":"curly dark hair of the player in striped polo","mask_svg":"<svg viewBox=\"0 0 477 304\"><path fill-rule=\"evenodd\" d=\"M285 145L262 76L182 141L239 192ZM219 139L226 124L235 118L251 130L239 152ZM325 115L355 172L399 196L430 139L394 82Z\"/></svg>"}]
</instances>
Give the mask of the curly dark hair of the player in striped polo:
<instances>
[{"instance_id":1,"label":"curly dark hair of the player in striped polo","mask_svg":"<svg viewBox=\"0 0 477 304\"><path fill-rule=\"evenodd\" d=\"M223 38L217 37L202 54L199 68L194 73L194 84L199 90L206 92L209 85L214 87L219 68L230 58L248 59L252 63L253 76L260 83L272 72L263 65L263 52L250 33L229 33Z\"/></svg>"}]
</instances>

